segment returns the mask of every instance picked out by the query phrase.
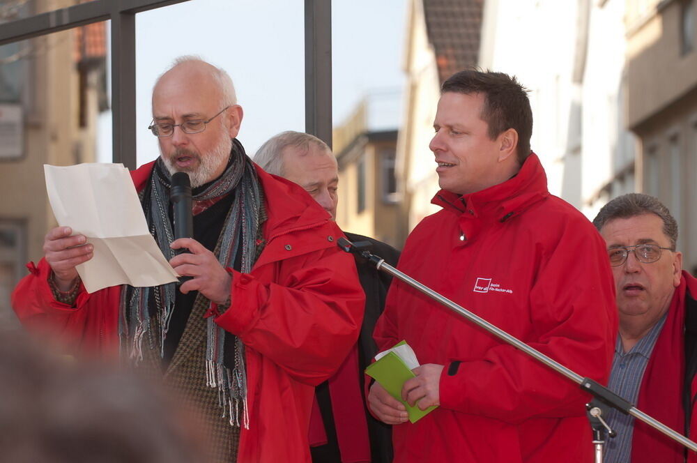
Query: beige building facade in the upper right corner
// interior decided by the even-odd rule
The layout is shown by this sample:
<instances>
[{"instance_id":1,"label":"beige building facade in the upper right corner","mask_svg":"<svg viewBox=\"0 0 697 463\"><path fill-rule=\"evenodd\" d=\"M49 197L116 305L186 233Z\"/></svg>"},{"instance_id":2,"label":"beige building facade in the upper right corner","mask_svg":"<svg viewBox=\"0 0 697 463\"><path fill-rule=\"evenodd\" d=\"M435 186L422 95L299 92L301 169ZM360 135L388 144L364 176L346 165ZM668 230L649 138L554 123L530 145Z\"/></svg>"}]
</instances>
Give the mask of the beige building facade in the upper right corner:
<instances>
[{"instance_id":1,"label":"beige building facade in the upper right corner","mask_svg":"<svg viewBox=\"0 0 697 463\"><path fill-rule=\"evenodd\" d=\"M627 125L636 188L677 220L683 266L697 274L697 10L694 0L627 1Z\"/></svg>"}]
</instances>

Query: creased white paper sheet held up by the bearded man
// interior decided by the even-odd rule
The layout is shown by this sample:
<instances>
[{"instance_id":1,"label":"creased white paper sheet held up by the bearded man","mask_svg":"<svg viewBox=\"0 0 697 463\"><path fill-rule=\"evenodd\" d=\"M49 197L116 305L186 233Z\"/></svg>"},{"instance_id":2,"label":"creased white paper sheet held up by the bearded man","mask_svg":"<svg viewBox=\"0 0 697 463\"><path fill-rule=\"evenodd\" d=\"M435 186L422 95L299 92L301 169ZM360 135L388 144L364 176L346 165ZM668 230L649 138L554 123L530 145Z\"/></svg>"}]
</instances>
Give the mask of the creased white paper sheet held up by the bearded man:
<instances>
[{"instance_id":1,"label":"creased white paper sheet held up by the bearded man","mask_svg":"<svg viewBox=\"0 0 697 463\"><path fill-rule=\"evenodd\" d=\"M44 165L44 174L56 221L94 246L94 257L76 267L88 292L176 281L178 275L148 232L128 169L121 164Z\"/></svg>"}]
</instances>

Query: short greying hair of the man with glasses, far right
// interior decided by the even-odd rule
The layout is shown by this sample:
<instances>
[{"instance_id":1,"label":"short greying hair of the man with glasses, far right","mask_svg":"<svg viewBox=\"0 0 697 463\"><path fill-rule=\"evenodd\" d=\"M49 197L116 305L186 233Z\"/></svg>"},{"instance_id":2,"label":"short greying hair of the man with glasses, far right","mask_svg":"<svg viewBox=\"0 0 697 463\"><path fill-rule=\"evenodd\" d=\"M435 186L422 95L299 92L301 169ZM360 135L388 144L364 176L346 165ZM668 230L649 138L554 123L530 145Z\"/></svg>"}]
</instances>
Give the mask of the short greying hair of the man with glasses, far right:
<instances>
[{"instance_id":1,"label":"short greying hair of the man with glasses, far right","mask_svg":"<svg viewBox=\"0 0 697 463\"><path fill-rule=\"evenodd\" d=\"M615 219L628 219L643 214L655 214L663 222L663 232L671 240L671 250L677 245L677 222L671 211L657 198L643 193L629 193L618 196L605 204L593 219L593 225L600 231L607 222Z\"/></svg>"}]
</instances>

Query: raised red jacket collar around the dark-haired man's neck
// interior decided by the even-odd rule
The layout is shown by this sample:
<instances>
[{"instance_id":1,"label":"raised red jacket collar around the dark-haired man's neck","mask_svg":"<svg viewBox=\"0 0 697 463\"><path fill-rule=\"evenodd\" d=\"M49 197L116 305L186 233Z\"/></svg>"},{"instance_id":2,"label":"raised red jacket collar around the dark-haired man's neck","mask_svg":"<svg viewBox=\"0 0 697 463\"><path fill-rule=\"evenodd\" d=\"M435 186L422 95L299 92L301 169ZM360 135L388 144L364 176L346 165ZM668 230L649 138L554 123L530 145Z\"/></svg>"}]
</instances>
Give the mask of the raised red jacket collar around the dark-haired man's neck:
<instances>
[{"instance_id":1,"label":"raised red jacket collar around the dark-haired man's neck","mask_svg":"<svg viewBox=\"0 0 697 463\"><path fill-rule=\"evenodd\" d=\"M431 203L458 215L471 211L474 217L493 215L505 220L547 196L547 177L539 158L531 153L512 179L469 195L441 190Z\"/></svg>"}]
</instances>

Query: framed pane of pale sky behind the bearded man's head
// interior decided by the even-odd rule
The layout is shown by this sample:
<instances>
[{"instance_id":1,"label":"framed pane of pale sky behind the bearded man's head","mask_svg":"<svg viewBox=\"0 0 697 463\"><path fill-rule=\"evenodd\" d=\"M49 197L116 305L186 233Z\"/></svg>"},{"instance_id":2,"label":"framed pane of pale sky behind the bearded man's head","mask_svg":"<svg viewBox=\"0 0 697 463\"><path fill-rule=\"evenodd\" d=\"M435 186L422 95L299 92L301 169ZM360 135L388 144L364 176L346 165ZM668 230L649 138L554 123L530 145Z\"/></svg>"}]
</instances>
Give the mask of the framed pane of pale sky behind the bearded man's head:
<instances>
[{"instance_id":1,"label":"framed pane of pale sky behind the bearded man's head","mask_svg":"<svg viewBox=\"0 0 697 463\"><path fill-rule=\"evenodd\" d=\"M177 56L223 68L244 118L247 154L284 130L305 130L304 2L197 0L136 15L137 163L160 154L147 127L156 79Z\"/></svg>"}]
</instances>

